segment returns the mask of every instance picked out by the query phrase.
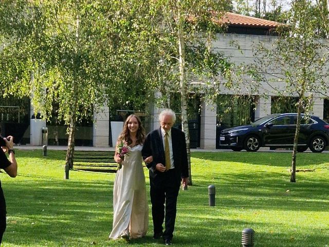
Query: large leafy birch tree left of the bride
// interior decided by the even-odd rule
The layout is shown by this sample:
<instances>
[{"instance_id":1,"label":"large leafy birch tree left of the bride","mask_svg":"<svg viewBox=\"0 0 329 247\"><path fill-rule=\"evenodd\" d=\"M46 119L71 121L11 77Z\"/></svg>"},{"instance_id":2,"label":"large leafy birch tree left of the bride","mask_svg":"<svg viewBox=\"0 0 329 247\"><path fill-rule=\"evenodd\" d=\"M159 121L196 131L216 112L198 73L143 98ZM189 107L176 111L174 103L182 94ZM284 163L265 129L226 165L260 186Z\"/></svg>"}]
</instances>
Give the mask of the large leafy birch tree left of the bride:
<instances>
[{"instance_id":1,"label":"large leafy birch tree left of the bride","mask_svg":"<svg viewBox=\"0 0 329 247\"><path fill-rule=\"evenodd\" d=\"M142 3L147 2L19 0L0 6L0 66L8 72L1 83L11 85L3 87L4 94L33 93L33 107L45 118L52 103L58 104L59 120L69 134L66 179L73 168L77 121L101 109L105 100L112 105L118 98L144 98L143 69L152 60L139 53L145 43L136 45L138 37L145 37L139 24L145 27L143 20L148 20L136 14L147 12ZM133 94L134 87L126 84L137 79L141 90Z\"/></svg>"}]
</instances>

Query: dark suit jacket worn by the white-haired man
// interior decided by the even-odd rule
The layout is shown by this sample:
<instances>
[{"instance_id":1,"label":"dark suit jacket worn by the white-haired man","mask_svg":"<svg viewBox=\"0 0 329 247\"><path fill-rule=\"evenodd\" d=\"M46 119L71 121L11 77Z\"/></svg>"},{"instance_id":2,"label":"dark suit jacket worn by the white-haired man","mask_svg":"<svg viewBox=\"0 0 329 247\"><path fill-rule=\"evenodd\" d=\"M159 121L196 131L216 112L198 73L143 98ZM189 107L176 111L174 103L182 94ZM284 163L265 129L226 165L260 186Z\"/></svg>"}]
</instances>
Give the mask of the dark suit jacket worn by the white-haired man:
<instances>
[{"instance_id":1,"label":"dark suit jacket worn by the white-haired man","mask_svg":"<svg viewBox=\"0 0 329 247\"><path fill-rule=\"evenodd\" d=\"M180 186L181 179L189 177L185 134L179 129L171 128L171 139L175 176L177 185ZM150 170L150 182L156 185L161 183L164 173L155 169L156 164L161 163L164 166L166 164L160 128L150 132L145 139L142 156L145 159L151 155L153 156L153 162L147 164L147 167Z\"/></svg>"}]
</instances>

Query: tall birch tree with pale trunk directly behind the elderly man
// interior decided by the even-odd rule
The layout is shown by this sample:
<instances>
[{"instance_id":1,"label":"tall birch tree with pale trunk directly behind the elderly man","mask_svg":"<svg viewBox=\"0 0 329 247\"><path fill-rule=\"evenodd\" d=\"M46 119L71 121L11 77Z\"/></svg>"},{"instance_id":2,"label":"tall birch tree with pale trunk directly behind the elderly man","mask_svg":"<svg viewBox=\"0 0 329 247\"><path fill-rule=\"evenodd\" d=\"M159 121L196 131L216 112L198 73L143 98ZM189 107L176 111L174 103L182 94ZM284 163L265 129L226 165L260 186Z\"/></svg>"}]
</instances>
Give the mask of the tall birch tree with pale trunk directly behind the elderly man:
<instances>
[{"instance_id":1,"label":"tall birch tree with pale trunk directly behind the elderly man","mask_svg":"<svg viewBox=\"0 0 329 247\"><path fill-rule=\"evenodd\" d=\"M191 92L205 93L206 87L195 86L195 81L200 78L209 81L228 67L228 63L223 62L226 61L224 56L211 50L214 34L223 25L215 20L218 21L228 8L227 1L161 0L154 1L153 6L157 11L153 25L158 36L160 58L157 90L162 93L161 100L168 99L169 92L178 91L180 94L181 127L186 136L192 184L187 99Z\"/></svg>"}]
</instances>

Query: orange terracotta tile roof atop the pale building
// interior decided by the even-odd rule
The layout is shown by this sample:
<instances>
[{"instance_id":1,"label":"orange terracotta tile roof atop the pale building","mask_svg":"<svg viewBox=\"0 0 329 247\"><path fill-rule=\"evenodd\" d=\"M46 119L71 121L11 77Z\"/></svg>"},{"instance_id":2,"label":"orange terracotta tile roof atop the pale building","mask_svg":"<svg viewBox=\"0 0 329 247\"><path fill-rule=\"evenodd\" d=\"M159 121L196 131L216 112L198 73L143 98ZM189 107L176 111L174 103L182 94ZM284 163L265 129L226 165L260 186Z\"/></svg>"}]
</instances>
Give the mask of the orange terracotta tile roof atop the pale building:
<instances>
[{"instance_id":1,"label":"orange terracotta tile roof atop the pale building","mask_svg":"<svg viewBox=\"0 0 329 247\"><path fill-rule=\"evenodd\" d=\"M225 24L230 26L275 28L280 25L278 22L230 12L226 12L221 19Z\"/></svg>"}]
</instances>

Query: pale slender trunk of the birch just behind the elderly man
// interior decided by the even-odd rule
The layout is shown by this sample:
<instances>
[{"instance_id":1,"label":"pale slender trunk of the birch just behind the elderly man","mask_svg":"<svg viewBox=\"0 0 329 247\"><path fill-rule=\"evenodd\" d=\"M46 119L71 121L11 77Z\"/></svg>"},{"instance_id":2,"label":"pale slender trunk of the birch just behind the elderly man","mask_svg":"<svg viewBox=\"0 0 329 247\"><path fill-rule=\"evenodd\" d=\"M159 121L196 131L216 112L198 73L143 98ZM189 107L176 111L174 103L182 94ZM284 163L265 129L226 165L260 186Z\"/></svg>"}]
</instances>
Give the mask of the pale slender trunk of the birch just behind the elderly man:
<instances>
[{"instance_id":1,"label":"pale slender trunk of the birch just behind the elderly man","mask_svg":"<svg viewBox=\"0 0 329 247\"><path fill-rule=\"evenodd\" d=\"M180 1L178 1L178 6ZM178 38L179 38L179 81L180 81L180 102L181 102L181 128L185 133L186 149L189 167L189 185L192 185L191 174L191 150L190 150L190 132L187 116L187 86L185 76L185 39L183 35L184 17L180 16L180 7L178 7Z\"/></svg>"}]
</instances>

